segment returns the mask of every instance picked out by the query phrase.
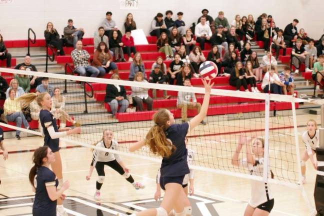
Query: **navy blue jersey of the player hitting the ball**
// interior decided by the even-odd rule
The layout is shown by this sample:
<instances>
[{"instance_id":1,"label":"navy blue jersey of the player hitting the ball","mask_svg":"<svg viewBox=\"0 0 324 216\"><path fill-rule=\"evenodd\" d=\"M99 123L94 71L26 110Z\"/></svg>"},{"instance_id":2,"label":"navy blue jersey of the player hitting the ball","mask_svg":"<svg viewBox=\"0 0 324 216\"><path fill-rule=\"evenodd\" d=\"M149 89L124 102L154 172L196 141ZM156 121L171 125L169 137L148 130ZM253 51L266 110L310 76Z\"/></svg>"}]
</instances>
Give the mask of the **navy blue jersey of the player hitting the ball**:
<instances>
[{"instance_id":1,"label":"navy blue jersey of the player hitting the ball","mask_svg":"<svg viewBox=\"0 0 324 216\"><path fill-rule=\"evenodd\" d=\"M176 150L169 157L163 157L161 177L181 176L190 172L186 161L187 149L184 142L188 128L188 122L184 122L182 124L172 124L166 129L166 138L175 145Z\"/></svg>"}]
</instances>

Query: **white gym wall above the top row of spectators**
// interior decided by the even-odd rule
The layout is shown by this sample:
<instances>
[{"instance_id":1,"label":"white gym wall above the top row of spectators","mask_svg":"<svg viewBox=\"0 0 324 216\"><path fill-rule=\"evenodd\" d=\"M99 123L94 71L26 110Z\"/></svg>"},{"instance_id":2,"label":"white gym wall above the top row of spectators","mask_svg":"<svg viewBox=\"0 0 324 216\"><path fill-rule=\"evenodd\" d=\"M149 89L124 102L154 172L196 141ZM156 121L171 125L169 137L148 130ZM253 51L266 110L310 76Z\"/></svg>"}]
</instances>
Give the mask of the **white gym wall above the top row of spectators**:
<instances>
[{"instance_id":1,"label":"white gym wall above the top row of spectators","mask_svg":"<svg viewBox=\"0 0 324 216\"><path fill-rule=\"evenodd\" d=\"M7 0L7 3L0 3L0 32L7 40L26 39L27 29L31 27L37 38L43 38L47 21L52 21L58 33L62 34L67 19L72 18L76 27L85 29L85 37L91 37L109 10L119 28L127 12L132 12L137 28L148 34L150 21L157 12L164 14L165 10L171 9L175 20L176 12L182 11L183 20L189 25L197 20L202 8L208 8L213 18L223 10L229 22L235 14L251 13L256 18L266 12L281 28L293 18L298 18L297 27L304 27L314 38L318 38L324 28L322 17L317 15L324 11L322 0L138 0L138 3L137 10L122 10L120 0ZM306 21L304 17L310 20Z\"/></svg>"}]
</instances>

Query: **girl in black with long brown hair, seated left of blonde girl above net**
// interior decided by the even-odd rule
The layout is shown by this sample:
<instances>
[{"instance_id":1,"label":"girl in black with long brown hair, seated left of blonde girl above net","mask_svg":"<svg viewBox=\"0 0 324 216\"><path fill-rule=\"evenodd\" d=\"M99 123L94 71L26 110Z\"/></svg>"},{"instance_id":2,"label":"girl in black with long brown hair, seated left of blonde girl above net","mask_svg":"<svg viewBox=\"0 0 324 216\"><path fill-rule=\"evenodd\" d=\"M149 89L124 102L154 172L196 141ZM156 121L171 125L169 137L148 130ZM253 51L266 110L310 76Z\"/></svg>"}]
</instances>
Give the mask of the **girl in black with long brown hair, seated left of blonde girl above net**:
<instances>
[{"instance_id":1,"label":"girl in black with long brown hair, seated left of blonde girl above net","mask_svg":"<svg viewBox=\"0 0 324 216\"><path fill-rule=\"evenodd\" d=\"M236 87L236 90L239 90L240 87L243 86L245 91L249 91L247 89L246 79L244 78L244 70L243 70L242 62L237 61L235 67L231 70L230 77L229 77L229 84L231 86Z\"/></svg>"}]
</instances>

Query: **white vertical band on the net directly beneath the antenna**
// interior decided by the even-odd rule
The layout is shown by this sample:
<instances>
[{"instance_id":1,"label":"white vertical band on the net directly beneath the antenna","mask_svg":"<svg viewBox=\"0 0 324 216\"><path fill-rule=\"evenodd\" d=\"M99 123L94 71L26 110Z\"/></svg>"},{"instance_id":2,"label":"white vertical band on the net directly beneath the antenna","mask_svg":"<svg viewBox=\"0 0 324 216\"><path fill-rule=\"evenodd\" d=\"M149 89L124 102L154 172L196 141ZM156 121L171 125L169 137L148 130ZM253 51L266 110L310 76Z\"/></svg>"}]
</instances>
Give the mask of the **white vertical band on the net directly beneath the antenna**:
<instances>
[{"instance_id":1,"label":"white vertical band on the net directly beneath the antenna","mask_svg":"<svg viewBox=\"0 0 324 216\"><path fill-rule=\"evenodd\" d=\"M263 181L268 181L269 169L269 117L270 117L270 94L265 96L264 109L264 161L263 161Z\"/></svg>"}]
</instances>

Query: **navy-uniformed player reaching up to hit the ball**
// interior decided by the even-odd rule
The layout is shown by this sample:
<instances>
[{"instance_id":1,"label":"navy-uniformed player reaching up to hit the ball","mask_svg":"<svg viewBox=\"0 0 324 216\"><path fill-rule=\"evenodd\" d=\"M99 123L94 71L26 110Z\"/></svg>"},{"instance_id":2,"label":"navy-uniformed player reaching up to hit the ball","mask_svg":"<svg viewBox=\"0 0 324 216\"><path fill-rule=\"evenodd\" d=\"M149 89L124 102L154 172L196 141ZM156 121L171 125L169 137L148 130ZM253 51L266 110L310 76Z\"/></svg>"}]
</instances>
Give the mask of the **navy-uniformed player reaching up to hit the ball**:
<instances>
[{"instance_id":1,"label":"navy-uniformed player reaching up to hit the ball","mask_svg":"<svg viewBox=\"0 0 324 216\"><path fill-rule=\"evenodd\" d=\"M182 189L184 175L189 173L185 136L206 116L210 90L213 85L210 85L210 80L207 83L205 79L202 79L202 82L205 94L200 112L196 116L190 121L176 124L173 114L169 110L159 109L153 115L154 125L147 132L145 139L129 147L129 151L132 152L147 145L152 153L163 157L160 185L165 190L160 207L146 209L131 214L132 216L167 216L172 209L175 210L177 216L186 215L184 200L188 201L188 197Z\"/></svg>"}]
</instances>

